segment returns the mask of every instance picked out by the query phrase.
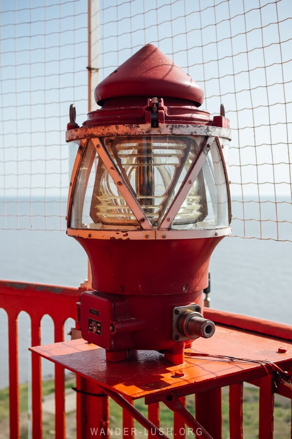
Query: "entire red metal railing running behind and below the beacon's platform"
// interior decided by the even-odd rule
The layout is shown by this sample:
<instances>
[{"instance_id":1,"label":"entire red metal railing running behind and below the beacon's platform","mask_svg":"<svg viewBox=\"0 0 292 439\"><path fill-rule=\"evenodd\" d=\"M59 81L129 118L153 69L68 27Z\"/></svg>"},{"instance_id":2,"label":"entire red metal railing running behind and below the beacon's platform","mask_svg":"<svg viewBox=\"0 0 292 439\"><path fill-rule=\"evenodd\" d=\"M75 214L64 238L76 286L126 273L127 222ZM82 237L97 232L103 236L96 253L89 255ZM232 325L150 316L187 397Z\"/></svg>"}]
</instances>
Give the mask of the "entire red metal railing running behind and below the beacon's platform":
<instances>
[{"instance_id":1,"label":"entire red metal railing running behind and below the beacon's platform","mask_svg":"<svg viewBox=\"0 0 292 439\"><path fill-rule=\"evenodd\" d=\"M31 318L31 344L39 345L41 319L45 314L54 321L55 342L64 340L64 322L68 318L75 318L76 301L79 300L83 288L66 288L49 285L29 284L11 281L0 281L0 308L8 315L8 347L9 347L9 408L10 408L10 438L20 436L19 428L19 387L18 387L18 314L25 311ZM291 340L292 330L288 325L260 322L258 319L244 319L230 313L206 310L206 316L215 322L227 324L237 328L256 331L280 339ZM290 364L291 367L291 364ZM36 354L32 355L32 433L34 439L42 438L42 382L41 361ZM275 389L271 376L264 378L249 378L249 382L259 387L259 438L273 438L274 422L274 393L292 399L292 390L281 382ZM195 395L196 419L190 420L185 411L185 397L180 397L180 404L167 402L166 406L174 411L173 425L169 427L173 437L185 438L188 436L186 425L196 425L200 422L214 439L221 438L222 411L221 385L214 381L214 388L208 390L200 388ZM229 435L231 439L243 437L243 382L229 383ZM110 414L108 397L96 398L92 394L103 394L105 389L94 382L76 377L76 425L77 439L93 437L91 426L98 427L98 434L94 437L108 438L110 436ZM110 394L110 392L108 392ZM114 395L110 395L112 398ZM178 394L178 396L180 396ZM134 418L144 422L135 410L129 411L127 401L117 395L117 402L123 407L121 419L121 434L126 439L134 439ZM131 404L133 402L129 400ZM178 401L177 401L178 402ZM182 403L182 404L181 404ZM173 407L172 405L173 404ZM212 416L209 414L212 413ZM160 405L153 402L148 405L148 420L159 427ZM188 424L189 422L189 424ZM199 424L199 425L200 425ZM204 436L200 434L198 438ZM165 430L164 430L164 433ZM161 437L163 437L161 435ZM208 436L205 436L208 437ZM64 369L55 365L55 438L66 438L65 422L65 392Z\"/></svg>"}]
</instances>

